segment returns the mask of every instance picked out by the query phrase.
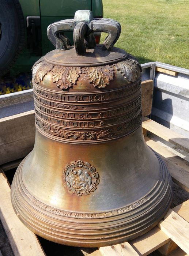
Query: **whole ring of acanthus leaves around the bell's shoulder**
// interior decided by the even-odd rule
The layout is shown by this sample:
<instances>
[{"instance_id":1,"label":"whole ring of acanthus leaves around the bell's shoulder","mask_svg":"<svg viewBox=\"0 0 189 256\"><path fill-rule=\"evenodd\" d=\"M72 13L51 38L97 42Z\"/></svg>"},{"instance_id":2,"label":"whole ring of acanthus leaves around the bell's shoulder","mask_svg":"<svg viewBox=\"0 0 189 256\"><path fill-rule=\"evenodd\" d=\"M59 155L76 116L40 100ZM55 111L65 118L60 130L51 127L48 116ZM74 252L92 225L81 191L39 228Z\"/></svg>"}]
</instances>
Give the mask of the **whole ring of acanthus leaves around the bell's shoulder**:
<instances>
[{"instance_id":1,"label":"whole ring of acanthus leaves around the bell's shoulder","mask_svg":"<svg viewBox=\"0 0 189 256\"><path fill-rule=\"evenodd\" d=\"M80 74L85 74L85 78L94 87L99 89L105 88L113 80L114 72L118 71L126 79L127 83L135 82L138 75L138 67L140 64L137 60L126 58L121 62L111 65L95 66L95 67L64 67L47 63L44 57L39 59L33 66L33 79L36 83L40 83L44 76L51 73L53 83L62 90L66 90L76 84Z\"/></svg>"}]
</instances>

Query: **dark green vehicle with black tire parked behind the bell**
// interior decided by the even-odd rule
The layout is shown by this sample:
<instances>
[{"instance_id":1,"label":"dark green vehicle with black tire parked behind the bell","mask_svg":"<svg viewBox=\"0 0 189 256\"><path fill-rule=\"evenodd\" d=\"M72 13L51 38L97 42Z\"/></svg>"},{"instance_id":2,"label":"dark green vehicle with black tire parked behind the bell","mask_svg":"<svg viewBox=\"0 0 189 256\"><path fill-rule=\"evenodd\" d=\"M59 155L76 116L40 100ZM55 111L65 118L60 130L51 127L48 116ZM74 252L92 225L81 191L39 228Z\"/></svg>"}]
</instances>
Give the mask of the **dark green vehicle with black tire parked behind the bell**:
<instances>
[{"instance_id":1,"label":"dark green vehicle with black tire parked behind the bell","mask_svg":"<svg viewBox=\"0 0 189 256\"><path fill-rule=\"evenodd\" d=\"M73 18L77 10L103 17L102 0L0 0L0 6L0 77L30 72L39 57L54 49L46 34L49 24ZM67 36L73 42L71 32Z\"/></svg>"}]
</instances>

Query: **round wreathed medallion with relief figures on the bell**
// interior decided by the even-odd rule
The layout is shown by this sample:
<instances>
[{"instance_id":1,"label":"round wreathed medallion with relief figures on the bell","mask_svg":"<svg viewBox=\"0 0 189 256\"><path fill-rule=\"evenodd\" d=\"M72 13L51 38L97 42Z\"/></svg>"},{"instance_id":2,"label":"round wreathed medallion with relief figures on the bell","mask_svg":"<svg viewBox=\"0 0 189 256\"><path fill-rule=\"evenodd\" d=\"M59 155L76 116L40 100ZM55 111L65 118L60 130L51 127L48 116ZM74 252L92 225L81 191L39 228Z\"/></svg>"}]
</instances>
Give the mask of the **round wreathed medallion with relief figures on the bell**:
<instances>
[{"instance_id":1,"label":"round wreathed medallion with relief figures on the bell","mask_svg":"<svg viewBox=\"0 0 189 256\"><path fill-rule=\"evenodd\" d=\"M65 166L63 180L70 193L77 196L89 195L97 189L99 174L93 165L78 160Z\"/></svg>"}]
</instances>

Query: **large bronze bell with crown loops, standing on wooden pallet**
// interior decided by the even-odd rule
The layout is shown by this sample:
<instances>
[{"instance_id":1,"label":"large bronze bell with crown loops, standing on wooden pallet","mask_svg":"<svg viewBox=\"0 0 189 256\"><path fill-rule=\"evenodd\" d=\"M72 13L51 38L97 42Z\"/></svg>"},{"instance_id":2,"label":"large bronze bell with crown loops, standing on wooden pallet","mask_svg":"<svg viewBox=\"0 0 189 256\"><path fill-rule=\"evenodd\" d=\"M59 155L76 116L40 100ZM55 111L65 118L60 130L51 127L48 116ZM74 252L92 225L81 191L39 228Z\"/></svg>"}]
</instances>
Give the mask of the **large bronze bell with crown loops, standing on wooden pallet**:
<instances>
[{"instance_id":1,"label":"large bronze bell with crown loops, standing on wooden pallet","mask_svg":"<svg viewBox=\"0 0 189 256\"><path fill-rule=\"evenodd\" d=\"M102 45L95 31L108 33ZM77 11L48 27L56 50L33 67L35 146L16 171L12 204L29 229L60 244L124 242L170 206L171 177L142 133L141 67L113 47L120 33L115 20Z\"/></svg>"}]
</instances>

